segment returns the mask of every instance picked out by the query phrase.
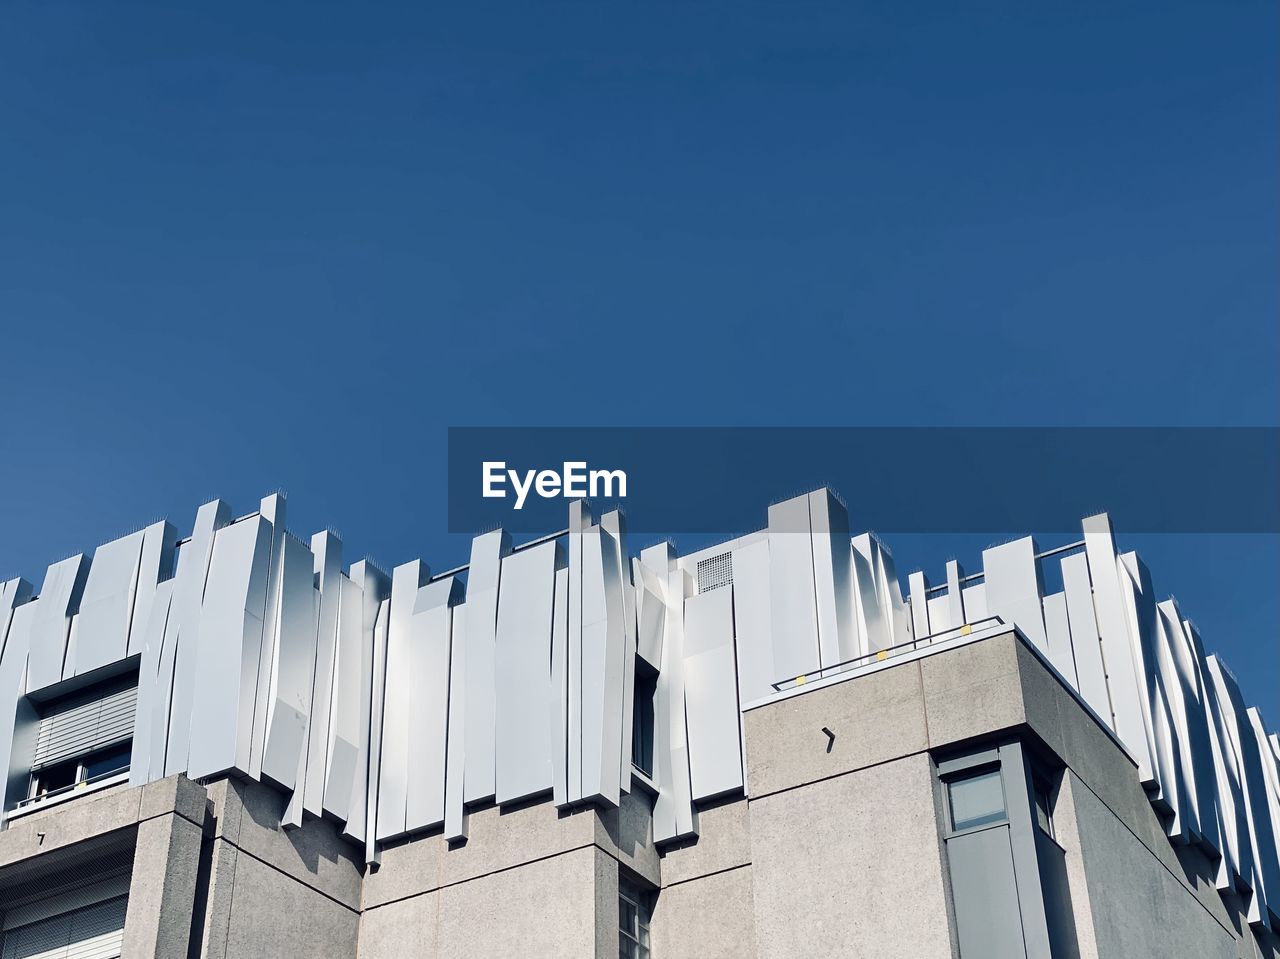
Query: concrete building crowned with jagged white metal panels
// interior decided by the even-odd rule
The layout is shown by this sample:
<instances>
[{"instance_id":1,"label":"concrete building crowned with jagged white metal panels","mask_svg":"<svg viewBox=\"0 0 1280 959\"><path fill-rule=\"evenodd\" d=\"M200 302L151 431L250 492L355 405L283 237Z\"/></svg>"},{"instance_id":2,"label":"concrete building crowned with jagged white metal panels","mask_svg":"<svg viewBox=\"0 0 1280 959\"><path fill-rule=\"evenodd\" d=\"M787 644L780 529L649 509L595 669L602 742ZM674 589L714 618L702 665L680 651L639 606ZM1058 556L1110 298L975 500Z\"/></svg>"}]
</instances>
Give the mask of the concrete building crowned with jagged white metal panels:
<instances>
[{"instance_id":1,"label":"concrete building crowned with jagged white metal panels","mask_svg":"<svg viewBox=\"0 0 1280 959\"><path fill-rule=\"evenodd\" d=\"M1280 956L1280 740L1105 515L904 598L826 490L439 575L284 506L0 588L0 959Z\"/></svg>"}]
</instances>

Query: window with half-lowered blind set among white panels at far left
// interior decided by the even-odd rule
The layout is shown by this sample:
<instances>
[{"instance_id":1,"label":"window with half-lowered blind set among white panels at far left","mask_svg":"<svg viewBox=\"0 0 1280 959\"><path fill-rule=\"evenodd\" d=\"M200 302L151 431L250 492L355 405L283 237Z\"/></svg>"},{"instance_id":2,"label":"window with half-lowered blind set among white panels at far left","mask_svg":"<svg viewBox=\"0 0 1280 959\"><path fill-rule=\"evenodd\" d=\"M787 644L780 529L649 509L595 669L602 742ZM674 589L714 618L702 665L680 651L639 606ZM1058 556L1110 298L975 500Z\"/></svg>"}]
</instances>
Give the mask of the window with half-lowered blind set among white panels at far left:
<instances>
[{"instance_id":1,"label":"window with half-lowered blind set among white panels at far left","mask_svg":"<svg viewBox=\"0 0 1280 959\"><path fill-rule=\"evenodd\" d=\"M128 770L137 691L136 676L120 676L40 704L26 802Z\"/></svg>"}]
</instances>

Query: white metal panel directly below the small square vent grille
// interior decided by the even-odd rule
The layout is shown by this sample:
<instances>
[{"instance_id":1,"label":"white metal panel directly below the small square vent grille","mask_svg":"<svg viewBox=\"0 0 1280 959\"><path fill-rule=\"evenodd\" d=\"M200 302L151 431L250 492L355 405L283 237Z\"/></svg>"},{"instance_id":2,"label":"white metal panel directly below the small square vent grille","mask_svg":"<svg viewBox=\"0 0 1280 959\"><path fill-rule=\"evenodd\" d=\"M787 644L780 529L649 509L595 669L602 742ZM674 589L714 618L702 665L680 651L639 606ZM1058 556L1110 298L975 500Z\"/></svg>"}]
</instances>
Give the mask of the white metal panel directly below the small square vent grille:
<instances>
[{"instance_id":1,"label":"white metal panel directly below the small square vent grille","mask_svg":"<svg viewBox=\"0 0 1280 959\"><path fill-rule=\"evenodd\" d=\"M685 600L685 711L692 799L742 787L741 712L730 589Z\"/></svg>"}]
</instances>

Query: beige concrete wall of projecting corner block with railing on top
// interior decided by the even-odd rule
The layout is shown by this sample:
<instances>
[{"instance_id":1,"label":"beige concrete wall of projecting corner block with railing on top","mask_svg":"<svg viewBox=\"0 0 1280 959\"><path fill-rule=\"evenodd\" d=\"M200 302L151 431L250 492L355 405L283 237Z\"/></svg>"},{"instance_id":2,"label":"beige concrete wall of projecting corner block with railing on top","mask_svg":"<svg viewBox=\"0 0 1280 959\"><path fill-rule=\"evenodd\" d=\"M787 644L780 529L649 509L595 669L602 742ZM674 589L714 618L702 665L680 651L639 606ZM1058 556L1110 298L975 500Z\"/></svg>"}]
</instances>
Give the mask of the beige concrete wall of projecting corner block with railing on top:
<instances>
[{"instance_id":1,"label":"beige concrete wall of projecting corner block with railing on top","mask_svg":"<svg viewBox=\"0 0 1280 959\"><path fill-rule=\"evenodd\" d=\"M929 754L1001 735L1066 767L1056 817L1082 959L1274 950L1207 868L1184 866L1137 764L1012 634L759 705L745 730L760 956L838 955L840 941L858 955L951 955L929 932L948 909Z\"/></svg>"}]
</instances>

